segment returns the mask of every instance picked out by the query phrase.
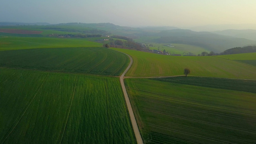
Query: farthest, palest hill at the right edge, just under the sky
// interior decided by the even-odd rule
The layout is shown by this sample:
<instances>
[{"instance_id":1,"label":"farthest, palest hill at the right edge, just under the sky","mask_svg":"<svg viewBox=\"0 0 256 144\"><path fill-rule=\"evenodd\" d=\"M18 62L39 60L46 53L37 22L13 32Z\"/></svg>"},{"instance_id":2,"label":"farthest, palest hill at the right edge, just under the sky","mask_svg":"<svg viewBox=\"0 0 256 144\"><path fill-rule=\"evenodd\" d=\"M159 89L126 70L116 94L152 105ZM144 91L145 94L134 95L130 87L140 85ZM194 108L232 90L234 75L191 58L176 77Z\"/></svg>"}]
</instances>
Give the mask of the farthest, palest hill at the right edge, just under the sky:
<instances>
[{"instance_id":1,"label":"farthest, palest hill at the right edge, just under the sky","mask_svg":"<svg viewBox=\"0 0 256 144\"><path fill-rule=\"evenodd\" d=\"M233 37L240 37L246 38L250 40L256 40L256 30L247 29L247 30L223 30L223 31L215 31L215 34L224 35L224 36L233 36Z\"/></svg>"}]
</instances>

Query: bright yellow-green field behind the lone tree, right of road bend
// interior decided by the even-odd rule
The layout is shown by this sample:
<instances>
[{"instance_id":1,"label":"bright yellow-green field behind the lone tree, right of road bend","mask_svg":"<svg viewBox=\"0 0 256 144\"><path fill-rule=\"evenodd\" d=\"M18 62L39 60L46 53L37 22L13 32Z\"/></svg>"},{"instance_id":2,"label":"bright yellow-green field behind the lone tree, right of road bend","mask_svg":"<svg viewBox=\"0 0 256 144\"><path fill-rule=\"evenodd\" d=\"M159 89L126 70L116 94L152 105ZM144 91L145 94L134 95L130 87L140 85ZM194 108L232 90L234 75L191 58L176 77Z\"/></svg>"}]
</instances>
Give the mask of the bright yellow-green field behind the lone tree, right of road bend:
<instances>
[{"instance_id":1,"label":"bright yellow-green field behind the lone tree, right of road bend","mask_svg":"<svg viewBox=\"0 0 256 144\"><path fill-rule=\"evenodd\" d=\"M194 76L256 79L256 67L218 57L166 56L129 49L112 49L132 56L133 65L126 76L183 75L184 68L189 68L190 75Z\"/></svg>"}]
</instances>

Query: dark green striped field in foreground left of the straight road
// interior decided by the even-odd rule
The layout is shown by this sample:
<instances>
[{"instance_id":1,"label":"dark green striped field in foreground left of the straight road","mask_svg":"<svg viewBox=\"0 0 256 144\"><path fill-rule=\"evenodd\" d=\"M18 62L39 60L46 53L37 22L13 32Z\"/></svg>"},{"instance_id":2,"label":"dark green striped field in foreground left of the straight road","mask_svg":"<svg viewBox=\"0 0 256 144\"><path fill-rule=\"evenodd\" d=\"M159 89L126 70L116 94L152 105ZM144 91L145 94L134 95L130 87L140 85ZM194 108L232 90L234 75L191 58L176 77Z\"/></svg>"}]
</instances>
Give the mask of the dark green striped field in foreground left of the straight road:
<instances>
[{"instance_id":1,"label":"dark green striped field in foreground left of the straight road","mask_svg":"<svg viewBox=\"0 0 256 144\"><path fill-rule=\"evenodd\" d=\"M136 143L118 78L0 69L0 144Z\"/></svg>"}]
</instances>

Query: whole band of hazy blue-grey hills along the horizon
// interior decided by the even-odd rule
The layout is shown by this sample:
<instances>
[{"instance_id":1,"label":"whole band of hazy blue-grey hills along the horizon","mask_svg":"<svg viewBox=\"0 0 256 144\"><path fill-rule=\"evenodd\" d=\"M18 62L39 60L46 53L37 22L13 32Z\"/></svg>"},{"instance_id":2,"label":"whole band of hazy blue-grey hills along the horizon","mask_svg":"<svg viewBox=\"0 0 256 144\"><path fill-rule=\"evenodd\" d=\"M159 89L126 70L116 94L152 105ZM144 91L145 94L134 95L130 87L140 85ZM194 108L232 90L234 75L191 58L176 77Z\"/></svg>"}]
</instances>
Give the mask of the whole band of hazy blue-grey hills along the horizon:
<instances>
[{"instance_id":1,"label":"whole band of hazy blue-grey hills along the horizon","mask_svg":"<svg viewBox=\"0 0 256 144\"><path fill-rule=\"evenodd\" d=\"M40 25L41 29L76 32L82 34L118 35L133 38L141 43L177 43L202 47L208 51L223 52L234 47L256 45L256 30L225 30L217 32L196 32L188 29L179 29L172 26L128 27L111 23L5 23L0 25ZM21 25L20 25L21 24ZM58 27L62 26L62 27ZM79 27L74 30L73 26ZM88 29L89 28L89 29Z\"/></svg>"}]
</instances>

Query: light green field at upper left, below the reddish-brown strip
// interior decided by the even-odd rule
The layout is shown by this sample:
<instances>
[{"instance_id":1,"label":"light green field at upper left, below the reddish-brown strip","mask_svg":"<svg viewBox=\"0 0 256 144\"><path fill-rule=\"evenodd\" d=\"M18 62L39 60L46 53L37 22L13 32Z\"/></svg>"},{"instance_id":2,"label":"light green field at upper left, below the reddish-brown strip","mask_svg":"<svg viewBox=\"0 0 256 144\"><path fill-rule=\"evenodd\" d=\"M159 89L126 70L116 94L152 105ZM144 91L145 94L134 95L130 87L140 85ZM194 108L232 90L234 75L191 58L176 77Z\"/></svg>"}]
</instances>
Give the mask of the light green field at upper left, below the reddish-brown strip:
<instances>
[{"instance_id":1,"label":"light green field at upper left, below the reddish-brown strip","mask_svg":"<svg viewBox=\"0 0 256 144\"><path fill-rule=\"evenodd\" d=\"M0 37L0 51L30 48L102 47L82 38Z\"/></svg>"}]
</instances>

